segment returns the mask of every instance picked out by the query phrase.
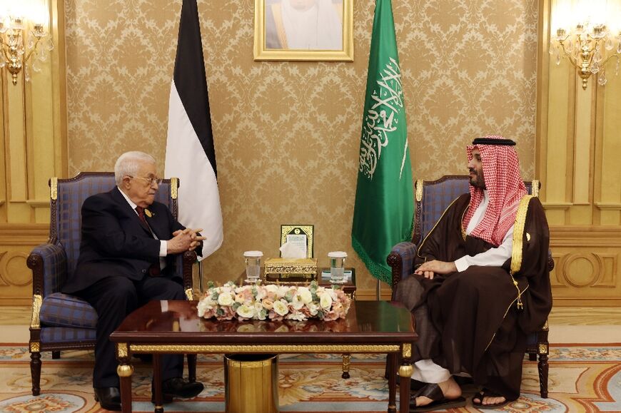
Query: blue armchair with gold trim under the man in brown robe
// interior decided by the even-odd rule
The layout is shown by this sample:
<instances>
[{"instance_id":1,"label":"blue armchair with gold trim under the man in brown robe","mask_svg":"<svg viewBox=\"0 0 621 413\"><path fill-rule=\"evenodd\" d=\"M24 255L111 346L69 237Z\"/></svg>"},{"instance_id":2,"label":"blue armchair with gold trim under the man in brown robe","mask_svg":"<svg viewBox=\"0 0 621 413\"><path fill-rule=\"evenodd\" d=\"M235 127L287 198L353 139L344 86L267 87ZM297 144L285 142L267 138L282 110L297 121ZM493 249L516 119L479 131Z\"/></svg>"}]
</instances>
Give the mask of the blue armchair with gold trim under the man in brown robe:
<instances>
[{"instance_id":1,"label":"blue armchair with gold trim under the man in brown robe","mask_svg":"<svg viewBox=\"0 0 621 413\"><path fill-rule=\"evenodd\" d=\"M395 287L400 280L414 272L413 262L416 256L417 245L425 238L425 235L433 228L444 212L459 195L468 192L468 175L445 175L438 180L425 182L417 180L415 183L415 210L414 210L414 235L411 242L398 243L388 255L387 262L392 268L393 300ZM531 195L539 194L540 183L538 180L525 182L526 190ZM554 268L552 255L548 255L548 268ZM527 353L531 361L539 356L539 383L541 397L547 397L547 374L548 374L548 342L547 322L541 330L528 338Z\"/></svg>"}]
</instances>

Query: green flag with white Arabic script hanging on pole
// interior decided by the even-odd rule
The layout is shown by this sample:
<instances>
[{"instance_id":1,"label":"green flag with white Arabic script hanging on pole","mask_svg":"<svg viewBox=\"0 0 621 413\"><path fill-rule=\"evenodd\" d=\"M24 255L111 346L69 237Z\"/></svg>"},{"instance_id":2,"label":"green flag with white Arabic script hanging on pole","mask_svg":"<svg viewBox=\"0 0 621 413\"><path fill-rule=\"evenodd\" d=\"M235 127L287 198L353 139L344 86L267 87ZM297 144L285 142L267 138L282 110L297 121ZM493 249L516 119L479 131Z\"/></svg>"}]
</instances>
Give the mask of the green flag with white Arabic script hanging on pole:
<instances>
[{"instance_id":1,"label":"green flag with white Arabic script hanging on pole","mask_svg":"<svg viewBox=\"0 0 621 413\"><path fill-rule=\"evenodd\" d=\"M412 236L414 198L401 69L390 0L377 0L360 137L351 243L373 277L390 282L386 257Z\"/></svg>"}]
</instances>

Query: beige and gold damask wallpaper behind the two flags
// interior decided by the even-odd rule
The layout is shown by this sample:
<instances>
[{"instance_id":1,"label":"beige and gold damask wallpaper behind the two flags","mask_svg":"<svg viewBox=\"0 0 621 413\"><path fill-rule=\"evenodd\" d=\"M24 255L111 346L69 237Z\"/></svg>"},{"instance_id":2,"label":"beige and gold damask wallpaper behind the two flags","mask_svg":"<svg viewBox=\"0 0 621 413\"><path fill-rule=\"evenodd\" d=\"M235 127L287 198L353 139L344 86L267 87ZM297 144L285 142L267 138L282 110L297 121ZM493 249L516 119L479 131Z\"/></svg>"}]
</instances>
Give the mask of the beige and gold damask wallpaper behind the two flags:
<instances>
[{"instance_id":1,"label":"beige and gold damask wallpaper behind the two flags","mask_svg":"<svg viewBox=\"0 0 621 413\"><path fill-rule=\"evenodd\" d=\"M161 160L181 0L66 0L70 174L124 151ZM253 0L198 1L224 243L208 277L277 256L280 225L315 225L315 257L349 253L373 0L354 2L355 61L253 61ZM465 173L464 146L501 133L534 178L537 1L393 0L415 179ZM183 183L181 183L183 185Z\"/></svg>"}]
</instances>

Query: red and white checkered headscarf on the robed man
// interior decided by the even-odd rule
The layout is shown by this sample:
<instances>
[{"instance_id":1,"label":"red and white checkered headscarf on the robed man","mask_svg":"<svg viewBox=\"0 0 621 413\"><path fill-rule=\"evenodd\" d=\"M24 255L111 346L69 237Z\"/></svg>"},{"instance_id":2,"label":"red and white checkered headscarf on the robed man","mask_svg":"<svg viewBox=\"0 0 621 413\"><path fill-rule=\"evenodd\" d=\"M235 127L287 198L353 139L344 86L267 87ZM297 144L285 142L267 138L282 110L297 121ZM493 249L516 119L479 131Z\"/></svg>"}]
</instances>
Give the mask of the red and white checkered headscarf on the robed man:
<instances>
[{"instance_id":1,"label":"red and white checkered headscarf on the robed man","mask_svg":"<svg viewBox=\"0 0 621 413\"><path fill-rule=\"evenodd\" d=\"M488 139L504 139L502 136L485 136ZM490 203L483 219L470 236L481 238L488 243L503 243L507 231L515 223L515 214L526 187L520 174L518 153L513 146L505 145L469 145L468 162L473 158L473 149L478 148L483 163L483 178L488 189ZM470 219L483 200L483 189L470 185L470 205L463 219L463 228L468 228Z\"/></svg>"}]
</instances>

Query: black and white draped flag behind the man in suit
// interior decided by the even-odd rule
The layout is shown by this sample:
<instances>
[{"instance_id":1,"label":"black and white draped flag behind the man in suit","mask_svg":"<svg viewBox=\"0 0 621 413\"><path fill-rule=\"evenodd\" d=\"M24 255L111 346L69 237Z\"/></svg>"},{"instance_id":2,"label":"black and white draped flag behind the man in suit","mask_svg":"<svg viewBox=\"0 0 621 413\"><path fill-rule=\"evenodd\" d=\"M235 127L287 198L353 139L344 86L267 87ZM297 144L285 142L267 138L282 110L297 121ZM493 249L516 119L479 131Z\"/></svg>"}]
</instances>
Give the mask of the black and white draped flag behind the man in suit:
<instances>
[{"instance_id":1,"label":"black and white draped flag behind the man in suit","mask_svg":"<svg viewBox=\"0 0 621 413\"><path fill-rule=\"evenodd\" d=\"M179 178L178 220L203 228L202 257L222 245L222 211L216 180L211 114L196 0L183 0L171 97L164 175Z\"/></svg>"}]
</instances>

